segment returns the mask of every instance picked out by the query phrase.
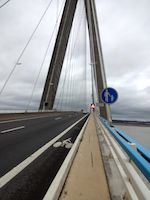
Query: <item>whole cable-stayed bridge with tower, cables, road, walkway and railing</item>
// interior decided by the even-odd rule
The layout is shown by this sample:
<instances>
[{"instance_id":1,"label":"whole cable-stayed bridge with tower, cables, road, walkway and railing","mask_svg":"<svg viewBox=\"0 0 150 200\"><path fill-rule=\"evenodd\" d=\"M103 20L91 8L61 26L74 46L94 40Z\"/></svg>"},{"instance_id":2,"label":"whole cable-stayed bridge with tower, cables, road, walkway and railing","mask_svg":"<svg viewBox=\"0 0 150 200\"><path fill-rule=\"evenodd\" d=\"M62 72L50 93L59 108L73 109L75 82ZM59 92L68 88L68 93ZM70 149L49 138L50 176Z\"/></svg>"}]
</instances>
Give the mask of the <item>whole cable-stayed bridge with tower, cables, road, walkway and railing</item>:
<instances>
[{"instance_id":1,"label":"whole cable-stayed bridge with tower, cables, road, walkway and railing","mask_svg":"<svg viewBox=\"0 0 150 200\"><path fill-rule=\"evenodd\" d=\"M53 28L40 48L49 10ZM149 150L113 126L105 88L95 1L49 1L0 90L3 110L24 110L0 115L1 199L149 198Z\"/></svg>"}]
</instances>

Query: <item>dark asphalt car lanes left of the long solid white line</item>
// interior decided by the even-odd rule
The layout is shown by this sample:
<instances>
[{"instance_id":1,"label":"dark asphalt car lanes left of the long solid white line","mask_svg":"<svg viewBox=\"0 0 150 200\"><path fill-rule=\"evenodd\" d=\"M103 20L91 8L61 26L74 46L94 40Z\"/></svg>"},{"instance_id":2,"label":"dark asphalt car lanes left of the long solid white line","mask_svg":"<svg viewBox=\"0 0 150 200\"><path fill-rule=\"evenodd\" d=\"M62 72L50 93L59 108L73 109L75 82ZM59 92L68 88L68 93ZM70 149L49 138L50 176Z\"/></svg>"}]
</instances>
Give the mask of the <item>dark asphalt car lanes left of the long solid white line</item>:
<instances>
[{"instance_id":1,"label":"dark asphalt car lanes left of the long solid white line","mask_svg":"<svg viewBox=\"0 0 150 200\"><path fill-rule=\"evenodd\" d=\"M72 125L83 114L0 122L0 177Z\"/></svg>"}]
</instances>

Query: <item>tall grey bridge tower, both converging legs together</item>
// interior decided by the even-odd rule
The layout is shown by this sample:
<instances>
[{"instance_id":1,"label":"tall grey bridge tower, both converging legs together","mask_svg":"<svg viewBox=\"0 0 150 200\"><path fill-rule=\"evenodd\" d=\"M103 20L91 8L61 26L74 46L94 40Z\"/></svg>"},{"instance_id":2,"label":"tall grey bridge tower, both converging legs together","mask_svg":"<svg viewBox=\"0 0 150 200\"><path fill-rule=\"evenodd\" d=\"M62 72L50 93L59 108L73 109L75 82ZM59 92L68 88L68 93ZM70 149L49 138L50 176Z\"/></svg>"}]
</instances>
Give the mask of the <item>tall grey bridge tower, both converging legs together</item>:
<instances>
[{"instance_id":1,"label":"tall grey bridge tower, both converging legs together","mask_svg":"<svg viewBox=\"0 0 150 200\"><path fill-rule=\"evenodd\" d=\"M77 2L78 0L66 0L65 2L39 110L53 109L55 95L57 92L57 87L75 15L75 10L77 7ZM100 93L104 88L106 88L106 76L104 70L96 7L94 0L84 0L84 3L90 38L90 54L92 62L94 61L95 63L92 66L96 81L96 90L99 101L98 103L100 105L102 104ZM103 106L100 107L100 115L111 121L110 108L108 105L103 104Z\"/></svg>"}]
</instances>

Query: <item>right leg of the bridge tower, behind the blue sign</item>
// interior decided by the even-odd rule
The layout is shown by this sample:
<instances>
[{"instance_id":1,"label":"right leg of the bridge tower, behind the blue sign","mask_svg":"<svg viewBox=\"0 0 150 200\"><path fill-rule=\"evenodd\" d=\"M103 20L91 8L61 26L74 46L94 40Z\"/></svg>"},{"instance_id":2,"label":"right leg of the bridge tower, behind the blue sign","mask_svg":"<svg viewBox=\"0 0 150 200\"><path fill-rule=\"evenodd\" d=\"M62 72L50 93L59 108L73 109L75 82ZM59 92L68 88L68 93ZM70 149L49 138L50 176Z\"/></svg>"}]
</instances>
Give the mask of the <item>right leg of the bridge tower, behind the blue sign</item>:
<instances>
[{"instance_id":1,"label":"right leg of the bridge tower, behind the blue sign","mask_svg":"<svg viewBox=\"0 0 150 200\"><path fill-rule=\"evenodd\" d=\"M96 90L98 94L98 103L103 103L100 98L100 93L107 87L106 76L104 70L103 54L101 48L97 13L94 0L84 0L86 8L86 16L88 22L91 60L93 62L93 72L96 81ZM110 106L103 104L100 107L100 115L111 122Z\"/></svg>"}]
</instances>

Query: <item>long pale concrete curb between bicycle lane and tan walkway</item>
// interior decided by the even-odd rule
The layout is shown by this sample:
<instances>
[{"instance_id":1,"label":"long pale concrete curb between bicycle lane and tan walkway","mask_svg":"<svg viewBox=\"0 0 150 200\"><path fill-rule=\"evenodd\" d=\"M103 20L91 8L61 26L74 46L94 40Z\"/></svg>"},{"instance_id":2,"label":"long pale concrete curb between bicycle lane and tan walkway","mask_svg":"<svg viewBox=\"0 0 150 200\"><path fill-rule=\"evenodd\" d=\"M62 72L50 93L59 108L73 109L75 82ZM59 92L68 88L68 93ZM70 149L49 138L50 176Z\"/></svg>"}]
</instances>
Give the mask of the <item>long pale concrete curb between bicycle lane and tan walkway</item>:
<instances>
[{"instance_id":1,"label":"long pale concrete curb between bicycle lane and tan walkway","mask_svg":"<svg viewBox=\"0 0 150 200\"><path fill-rule=\"evenodd\" d=\"M82 140L84 130L88 124L89 117L86 120L84 126L82 127L74 145L72 146L71 150L69 151L67 157L65 158L62 166L60 167L57 175L55 176L52 184L50 185L46 195L44 196L43 200L57 200L60 196L62 191L63 185L66 181L67 175L75 158L75 155L78 151L80 142Z\"/></svg>"}]
</instances>

